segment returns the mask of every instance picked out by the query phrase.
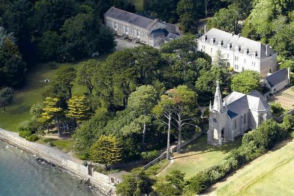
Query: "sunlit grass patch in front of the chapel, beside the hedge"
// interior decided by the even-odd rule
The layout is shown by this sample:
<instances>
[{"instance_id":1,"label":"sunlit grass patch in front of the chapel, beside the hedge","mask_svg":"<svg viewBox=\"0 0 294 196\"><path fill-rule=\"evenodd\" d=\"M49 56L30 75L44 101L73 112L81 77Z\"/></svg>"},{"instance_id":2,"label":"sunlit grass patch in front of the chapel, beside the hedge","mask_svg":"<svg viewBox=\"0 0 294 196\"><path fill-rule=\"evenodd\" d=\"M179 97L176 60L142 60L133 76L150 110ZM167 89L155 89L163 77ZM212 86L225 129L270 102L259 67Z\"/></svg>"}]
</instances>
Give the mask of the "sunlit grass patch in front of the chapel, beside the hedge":
<instances>
[{"instance_id":1,"label":"sunlit grass patch in front of the chapel, beside the hedge","mask_svg":"<svg viewBox=\"0 0 294 196\"><path fill-rule=\"evenodd\" d=\"M166 171L160 173L160 176L179 170L186 173L185 179L188 179L204 168L220 163L231 149L239 147L241 143L242 137L238 137L234 142L214 147L207 145L207 137L204 134L185 147L181 154L175 153L174 162Z\"/></svg>"}]
</instances>

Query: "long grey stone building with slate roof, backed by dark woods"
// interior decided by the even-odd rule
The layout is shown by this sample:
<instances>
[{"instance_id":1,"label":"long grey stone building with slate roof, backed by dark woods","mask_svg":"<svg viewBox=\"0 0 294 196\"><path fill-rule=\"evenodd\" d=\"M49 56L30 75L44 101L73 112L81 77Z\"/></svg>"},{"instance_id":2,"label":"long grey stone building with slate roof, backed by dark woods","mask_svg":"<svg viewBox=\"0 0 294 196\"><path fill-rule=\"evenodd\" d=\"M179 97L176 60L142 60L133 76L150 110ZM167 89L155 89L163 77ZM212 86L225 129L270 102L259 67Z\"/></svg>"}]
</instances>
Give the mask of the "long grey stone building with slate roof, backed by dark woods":
<instances>
[{"instance_id":1,"label":"long grey stone building with slate roof, backed by dark woods","mask_svg":"<svg viewBox=\"0 0 294 196\"><path fill-rule=\"evenodd\" d=\"M104 14L104 23L114 32L152 47L160 46L172 39L177 39L175 25L164 23L158 19L152 20L137 14L111 7Z\"/></svg>"}]
</instances>

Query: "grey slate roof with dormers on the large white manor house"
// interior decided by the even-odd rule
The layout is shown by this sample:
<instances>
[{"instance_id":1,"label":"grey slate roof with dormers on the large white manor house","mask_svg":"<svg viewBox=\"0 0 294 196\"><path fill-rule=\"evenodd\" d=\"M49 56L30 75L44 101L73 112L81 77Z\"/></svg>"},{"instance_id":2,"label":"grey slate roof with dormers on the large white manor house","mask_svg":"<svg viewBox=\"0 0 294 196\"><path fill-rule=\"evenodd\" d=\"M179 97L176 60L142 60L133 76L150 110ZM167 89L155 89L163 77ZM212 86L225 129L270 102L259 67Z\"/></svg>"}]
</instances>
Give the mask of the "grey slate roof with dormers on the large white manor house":
<instances>
[{"instance_id":1,"label":"grey slate roof with dormers on the large white manor house","mask_svg":"<svg viewBox=\"0 0 294 196\"><path fill-rule=\"evenodd\" d=\"M215 45L218 46L219 41L223 42L223 45L221 47L226 48L227 44L232 44L231 50L235 50L236 47L241 47L240 53L244 53L245 49L248 49L249 52L247 55L252 56L253 52L257 52L256 58L262 59L267 57L266 56L266 46L260 42L247 39L245 37L239 37L238 35L233 35L232 33L228 33L225 31L222 31L217 28L212 28L209 31L207 31L204 35L202 35L197 40L202 41L202 38L204 36L207 36L207 43L210 43L210 40L212 38L215 38ZM271 55L275 52L271 50Z\"/></svg>"}]
</instances>

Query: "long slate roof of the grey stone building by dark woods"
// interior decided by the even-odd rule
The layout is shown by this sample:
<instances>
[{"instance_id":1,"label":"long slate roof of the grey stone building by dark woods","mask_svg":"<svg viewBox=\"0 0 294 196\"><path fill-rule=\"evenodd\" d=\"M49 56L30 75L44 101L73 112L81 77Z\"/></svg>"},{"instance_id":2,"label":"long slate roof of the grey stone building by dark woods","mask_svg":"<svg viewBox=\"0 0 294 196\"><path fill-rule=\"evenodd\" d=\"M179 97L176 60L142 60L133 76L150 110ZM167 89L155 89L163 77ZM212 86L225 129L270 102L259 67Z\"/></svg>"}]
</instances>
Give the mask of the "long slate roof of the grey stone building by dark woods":
<instances>
[{"instance_id":1,"label":"long slate roof of the grey stone building by dark woods","mask_svg":"<svg viewBox=\"0 0 294 196\"><path fill-rule=\"evenodd\" d=\"M126 12L124 10L115 8L115 7L111 7L105 14L104 16L108 16L114 19L118 19L136 26L140 26L143 28L151 28L153 26L153 24L155 23L154 20L148 19L146 17L137 15L137 14L133 14L130 12Z\"/></svg>"}]
</instances>

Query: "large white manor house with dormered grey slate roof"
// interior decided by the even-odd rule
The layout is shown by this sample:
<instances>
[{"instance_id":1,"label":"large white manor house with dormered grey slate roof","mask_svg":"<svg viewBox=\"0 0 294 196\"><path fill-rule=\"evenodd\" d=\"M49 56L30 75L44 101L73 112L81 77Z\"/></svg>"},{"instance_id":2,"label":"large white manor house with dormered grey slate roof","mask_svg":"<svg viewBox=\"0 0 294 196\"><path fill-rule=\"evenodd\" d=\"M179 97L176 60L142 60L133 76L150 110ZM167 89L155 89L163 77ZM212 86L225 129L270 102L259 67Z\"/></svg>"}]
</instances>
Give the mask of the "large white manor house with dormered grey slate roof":
<instances>
[{"instance_id":1,"label":"large white manor house with dormered grey slate roof","mask_svg":"<svg viewBox=\"0 0 294 196\"><path fill-rule=\"evenodd\" d=\"M203 51L212 57L212 61L221 52L221 58L226 59L227 67L235 72L253 70L265 77L267 73L278 70L277 53L269 45L247 39L235 32L228 33L212 28L197 39L198 51Z\"/></svg>"}]
</instances>

